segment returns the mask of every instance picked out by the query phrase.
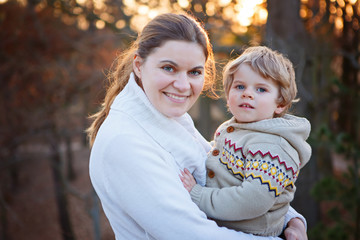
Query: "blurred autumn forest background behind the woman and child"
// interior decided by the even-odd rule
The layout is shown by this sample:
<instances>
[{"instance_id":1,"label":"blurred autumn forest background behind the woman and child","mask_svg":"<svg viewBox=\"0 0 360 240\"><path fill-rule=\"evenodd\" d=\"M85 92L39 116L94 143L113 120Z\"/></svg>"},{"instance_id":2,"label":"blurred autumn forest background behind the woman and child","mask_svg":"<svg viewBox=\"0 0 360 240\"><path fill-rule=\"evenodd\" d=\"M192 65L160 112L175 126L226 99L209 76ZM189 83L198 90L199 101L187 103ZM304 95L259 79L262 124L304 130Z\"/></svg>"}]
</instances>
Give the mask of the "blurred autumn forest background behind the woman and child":
<instances>
[{"instance_id":1,"label":"blurred autumn forest background behind the woman and child","mask_svg":"<svg viewBox=\"0 0 360 240\"><path fill-rule=\"evenodd\" d=\"M360 3L356 0L0 0L0 239L113 239L88 176L84 129L106 73L164 12L192 12L219 72L245 46L294 63L313 155L292 206L309 239L360 239ZM225 102L191 109L211 139Z\"/></svg>"}]
</instances>

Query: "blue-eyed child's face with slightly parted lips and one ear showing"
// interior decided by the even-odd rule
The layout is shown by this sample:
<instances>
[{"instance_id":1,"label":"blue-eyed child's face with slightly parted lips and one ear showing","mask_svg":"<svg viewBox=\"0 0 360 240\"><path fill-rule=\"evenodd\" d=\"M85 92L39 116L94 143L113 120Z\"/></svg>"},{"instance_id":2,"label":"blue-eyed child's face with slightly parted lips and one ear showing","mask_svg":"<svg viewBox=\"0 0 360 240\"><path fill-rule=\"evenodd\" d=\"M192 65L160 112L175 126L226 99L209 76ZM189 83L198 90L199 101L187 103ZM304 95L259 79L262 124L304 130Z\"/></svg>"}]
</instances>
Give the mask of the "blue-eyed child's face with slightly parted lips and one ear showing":
<instances>
[{"instance_id":1,"label":"blue-eyed child's face with slightly parted lips and one ear showing","mask_svg":"<svg viewBox=\"0 0 360 240\"><path fill-rule=\"evenodd\" d=\"M238 123L250 123L273 118L275 113L284 111L277 104L278 98L278 84L243 63L234 73L227 103Z\"/></svg>"}]
</instances>

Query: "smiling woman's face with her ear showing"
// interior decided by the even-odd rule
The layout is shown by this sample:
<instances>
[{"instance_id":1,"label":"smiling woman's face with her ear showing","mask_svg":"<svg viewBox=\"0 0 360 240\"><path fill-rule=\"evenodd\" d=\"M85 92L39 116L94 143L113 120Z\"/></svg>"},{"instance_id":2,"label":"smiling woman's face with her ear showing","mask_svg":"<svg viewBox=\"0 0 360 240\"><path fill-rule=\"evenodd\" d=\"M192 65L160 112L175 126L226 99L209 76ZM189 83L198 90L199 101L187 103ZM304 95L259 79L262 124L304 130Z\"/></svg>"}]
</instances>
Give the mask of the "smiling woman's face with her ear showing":
<instances>
[{"instance_id":1,"label":"smiling woman's face with her ear showing","mask_svg":"<svg viewBox=\"0 0 360 240\"><path fill-rule=\"evenodd\" d=\"M133 68L153 106L167 117L179 117L203 89L205 61L199 44L169 40L146 59L136 56Z\"/></svg>"}]
</instances>

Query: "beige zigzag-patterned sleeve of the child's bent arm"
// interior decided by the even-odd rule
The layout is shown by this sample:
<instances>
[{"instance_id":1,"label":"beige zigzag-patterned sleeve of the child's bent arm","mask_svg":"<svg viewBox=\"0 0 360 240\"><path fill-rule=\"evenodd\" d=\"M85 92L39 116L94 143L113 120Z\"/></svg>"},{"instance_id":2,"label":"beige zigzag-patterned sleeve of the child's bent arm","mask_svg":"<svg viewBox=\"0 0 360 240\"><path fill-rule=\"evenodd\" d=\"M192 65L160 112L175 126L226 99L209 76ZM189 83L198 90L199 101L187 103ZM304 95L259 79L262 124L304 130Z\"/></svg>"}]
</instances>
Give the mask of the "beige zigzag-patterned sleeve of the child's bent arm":
<instances>
[{"instance_id":1,"label":"beige zigzag-patterned sleeve of the child's bent arm","mask_svg":"<svg viewBox=\"0 0 360 240\"><path fill-rule=\"evenodd\" d=\"M243 181L239 180L238 186L217 189L195 185L190 193L192 200L209 217L224 221L253 219L265 214L285 187L291 185L295 172L287 169L284 159L274 157L289 157L281 147L271 149L271 153L247 151L242 164Z\"/></svg>"}]
</instances>

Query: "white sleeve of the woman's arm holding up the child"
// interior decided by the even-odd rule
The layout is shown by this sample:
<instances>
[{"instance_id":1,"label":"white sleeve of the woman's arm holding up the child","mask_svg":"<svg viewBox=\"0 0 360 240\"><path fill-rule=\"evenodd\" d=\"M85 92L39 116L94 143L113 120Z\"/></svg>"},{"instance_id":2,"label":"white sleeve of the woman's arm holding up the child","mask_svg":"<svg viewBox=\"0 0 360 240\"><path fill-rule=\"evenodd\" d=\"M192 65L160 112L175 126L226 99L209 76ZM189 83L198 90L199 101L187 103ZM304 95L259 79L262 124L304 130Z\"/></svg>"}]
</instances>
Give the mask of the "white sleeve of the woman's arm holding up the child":
<instances>
[{"instance_id":1,"label":"white sleeve of the woman's arm holding up the child","mask_svg":"<svg viewBox=\"0 0 360 240\"><path fill-rule=\"evenodd\" d=\"M112 228L131 221L151 239L279 239L220 228L191 201L171 155L137 136L119 136L103 148L102 163L93 166L92 179ZM100 186L100 187L99 187ZM116 230L114 230L116 231Z\"/></svg>"}]
</instances>

